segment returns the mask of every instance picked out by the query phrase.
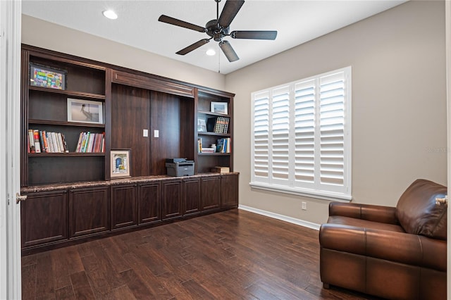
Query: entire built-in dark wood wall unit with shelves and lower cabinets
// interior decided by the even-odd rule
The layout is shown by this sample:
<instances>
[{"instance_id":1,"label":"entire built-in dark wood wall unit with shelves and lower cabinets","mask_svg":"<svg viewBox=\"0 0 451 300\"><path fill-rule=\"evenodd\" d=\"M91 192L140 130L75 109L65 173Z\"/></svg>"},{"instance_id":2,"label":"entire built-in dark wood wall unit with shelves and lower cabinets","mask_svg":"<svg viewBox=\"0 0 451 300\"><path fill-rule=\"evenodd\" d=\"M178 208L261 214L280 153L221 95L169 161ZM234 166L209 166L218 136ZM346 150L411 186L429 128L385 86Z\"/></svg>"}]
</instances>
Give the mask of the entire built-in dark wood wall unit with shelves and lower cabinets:
<instances>
[{"instance_id":1,"label":"entire built-in dark wood wall unit with shelves and lower cabinets","mask_svg":"<svg viewBox=\"0 0 451 300\"><path fill-rule=\"evenodd\" d=\"M34 85L33 66L61 71L63 87ZM21 68L24 253L237 207L234 94L27 45ZM103 120L74 122L68 99L98 104ZM227 130L199 130L216 118ZM61 132L66 151L32 152L29 130ZM104 135L104 151L75 151L81 132ZM229 140L228 153L199 148L218 139ZM125 149L131 176L113 179L110 151ZM193 161L194 174L166 175L166 158ZM211 173L216 166L230 173Z\"/></svg>"}]
</instances>

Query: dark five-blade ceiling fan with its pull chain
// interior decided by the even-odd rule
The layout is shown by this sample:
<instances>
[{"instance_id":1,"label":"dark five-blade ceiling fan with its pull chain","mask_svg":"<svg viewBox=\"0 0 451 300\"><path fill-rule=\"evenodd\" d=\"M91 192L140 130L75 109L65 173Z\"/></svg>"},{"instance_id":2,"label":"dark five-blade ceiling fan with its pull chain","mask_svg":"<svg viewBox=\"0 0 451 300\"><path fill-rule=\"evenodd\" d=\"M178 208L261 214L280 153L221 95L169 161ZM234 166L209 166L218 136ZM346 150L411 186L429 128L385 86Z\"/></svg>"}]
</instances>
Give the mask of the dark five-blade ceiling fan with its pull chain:
<instances>
[{"instance_id":1,"label":"dark five-blade ceiling fan with its pull chain","mask_svg":"<svg viewBox=\"0 0 451 300\"><path fill-rule=\"evenodd\" d=\"M229 33L230 23L232 23L233 19L237 15L238 11L240 11L240 8L245 3L245 1L226 0L226 4L224 4L221 16L219 15L219 2L221 0L214 1L216 1L216 19L207 22L205 27L187 23L183 20L171 18L167 15L160 15L160 18L158 18L160 22L185 27L187 29L196 30L198 32L205 32L210 37L209 39L201 39L200 41L195 42L194 44L191 44L190 46L187 46L186 48L176 52L176 54L188 54L191 51L199 48L200 46L203 46L204 44L210 42L211 39L214 39L216 42L219 42L219 47L223 51L224 55L226 55L228 61L232 62L237 61L240 58L235 53L235 50L233 50L232 45L228 41L223 40L224 37L231 37L233 39L276 39L277 31L274 30L234 30L233 32Z\"/></svg>"}]
</instances>

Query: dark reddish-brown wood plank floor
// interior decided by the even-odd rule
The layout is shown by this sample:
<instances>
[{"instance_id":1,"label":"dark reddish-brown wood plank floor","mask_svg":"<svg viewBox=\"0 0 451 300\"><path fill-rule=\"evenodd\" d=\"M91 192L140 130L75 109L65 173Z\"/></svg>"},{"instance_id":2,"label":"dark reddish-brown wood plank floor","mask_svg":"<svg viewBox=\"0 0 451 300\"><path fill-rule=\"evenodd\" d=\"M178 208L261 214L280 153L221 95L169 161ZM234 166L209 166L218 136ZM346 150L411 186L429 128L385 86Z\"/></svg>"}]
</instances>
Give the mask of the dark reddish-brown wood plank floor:
<instances>
[{"instance_id":1,"label":"dark reddish-brown wood plank floor","mask_svg":"<svg viewBox=\"0 0 451 300\"><path fill-rule=\"evenodd\" d=\"M322 288L318 231L237 209L22 265L23 299L373 299Z\"/></svg>"}]
</instances>

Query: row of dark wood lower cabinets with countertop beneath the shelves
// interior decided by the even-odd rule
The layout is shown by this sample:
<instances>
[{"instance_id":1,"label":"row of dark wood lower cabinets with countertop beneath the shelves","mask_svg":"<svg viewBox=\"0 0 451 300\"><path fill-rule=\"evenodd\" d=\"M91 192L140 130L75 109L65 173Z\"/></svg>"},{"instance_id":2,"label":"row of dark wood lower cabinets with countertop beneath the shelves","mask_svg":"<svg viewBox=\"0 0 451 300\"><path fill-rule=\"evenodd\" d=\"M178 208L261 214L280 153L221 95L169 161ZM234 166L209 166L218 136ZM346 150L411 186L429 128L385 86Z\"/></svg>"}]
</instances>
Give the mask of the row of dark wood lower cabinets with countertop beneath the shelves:
<instances>
[{"instance_id":1,"label":"row of dark wood lower cabinets with countertop beneath the shelves","mask_svg":"<svg viewBox=\"0 0 451 300\"><path fill-rule=\"evenodd\" d=\"M24 187L22 255L238 207L238 173Z\"/></svg>"}]
</instances>

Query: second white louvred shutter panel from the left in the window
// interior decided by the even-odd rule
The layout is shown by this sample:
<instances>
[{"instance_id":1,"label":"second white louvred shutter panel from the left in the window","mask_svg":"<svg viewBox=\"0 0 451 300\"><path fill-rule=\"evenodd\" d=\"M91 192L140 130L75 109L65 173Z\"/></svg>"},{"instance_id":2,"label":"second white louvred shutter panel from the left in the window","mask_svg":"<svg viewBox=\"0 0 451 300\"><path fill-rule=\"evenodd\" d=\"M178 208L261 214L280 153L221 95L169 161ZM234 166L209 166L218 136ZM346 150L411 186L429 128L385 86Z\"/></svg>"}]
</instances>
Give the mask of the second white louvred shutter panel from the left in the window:
<instances>
[{"instance_id":1,"label":"second white louvred shutter panel from the left in the window","mask_svg":"<svg viewBox=\"0 0 451 300\"><path fill-rule=\"evenodd\" d=\"M271 122L271 175L276 180L288 180L290 87L280 87L273 90Z\"/></svg>"}]
</instances>

